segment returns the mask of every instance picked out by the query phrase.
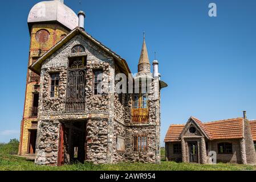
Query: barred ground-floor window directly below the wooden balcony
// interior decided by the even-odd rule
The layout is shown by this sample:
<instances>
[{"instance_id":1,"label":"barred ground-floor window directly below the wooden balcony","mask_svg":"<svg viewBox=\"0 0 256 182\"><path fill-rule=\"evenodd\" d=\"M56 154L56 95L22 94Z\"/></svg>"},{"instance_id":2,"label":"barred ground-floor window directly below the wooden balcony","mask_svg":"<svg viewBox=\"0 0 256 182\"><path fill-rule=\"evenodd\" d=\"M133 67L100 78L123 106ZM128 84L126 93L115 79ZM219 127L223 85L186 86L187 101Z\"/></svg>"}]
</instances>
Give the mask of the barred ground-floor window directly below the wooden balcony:
<instances>
[{"instance_id":1,"label":"barred ground-floor window directly below the wooden balcony","mask_svg":"<svg viewBox=\"0 0 256 182\"><path fill-rule=\"evenodd\" d=\"M133 151L145 152L148 150L147 135L133 135Z\"/></svg>"}]
</instances>

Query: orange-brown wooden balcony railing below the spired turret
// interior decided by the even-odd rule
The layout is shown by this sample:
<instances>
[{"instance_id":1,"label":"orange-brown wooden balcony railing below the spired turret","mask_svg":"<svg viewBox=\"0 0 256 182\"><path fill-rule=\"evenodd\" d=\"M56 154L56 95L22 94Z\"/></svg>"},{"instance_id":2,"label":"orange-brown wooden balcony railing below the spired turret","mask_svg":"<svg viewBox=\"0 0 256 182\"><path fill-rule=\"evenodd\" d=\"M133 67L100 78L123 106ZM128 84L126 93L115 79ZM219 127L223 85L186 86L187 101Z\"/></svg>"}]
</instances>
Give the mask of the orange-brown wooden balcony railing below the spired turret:
<instances>
[{"instance_id":1,"label":"orange-brown wooden balcony railing below the spired turret","mask_svg":"<svg viewBox=\"0 0 256 182\"><path fill-rule=\"evenodd\" d=\"M148 123L148 109L132 109L132 123Z\"/></svg>"}]
</instances>

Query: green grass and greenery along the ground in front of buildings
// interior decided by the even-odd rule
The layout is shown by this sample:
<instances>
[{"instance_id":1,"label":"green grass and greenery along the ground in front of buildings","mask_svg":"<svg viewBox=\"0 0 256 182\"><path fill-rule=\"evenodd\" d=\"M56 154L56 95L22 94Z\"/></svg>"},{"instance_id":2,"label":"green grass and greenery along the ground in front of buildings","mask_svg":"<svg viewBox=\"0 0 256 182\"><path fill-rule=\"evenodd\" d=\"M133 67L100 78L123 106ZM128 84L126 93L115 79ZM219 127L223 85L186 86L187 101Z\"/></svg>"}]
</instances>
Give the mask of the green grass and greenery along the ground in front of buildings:
<instances>
[{"instance_id":1,"label":"green grass and greenery along the ground in front of buildings","mask_svg":"<svg viewBox=\"0 0 256 182\"><path fill-rule=\"evenodd\" d=\"M119 163L101 164L91 163L73 164L62 167L36 166L34 162L13 156L17 151L17 143L10 142L0 145L0 171L237 171L256 170L256 166L242 164L201 165L162 161L161 164Z\"/></svg>"}]
</instances>

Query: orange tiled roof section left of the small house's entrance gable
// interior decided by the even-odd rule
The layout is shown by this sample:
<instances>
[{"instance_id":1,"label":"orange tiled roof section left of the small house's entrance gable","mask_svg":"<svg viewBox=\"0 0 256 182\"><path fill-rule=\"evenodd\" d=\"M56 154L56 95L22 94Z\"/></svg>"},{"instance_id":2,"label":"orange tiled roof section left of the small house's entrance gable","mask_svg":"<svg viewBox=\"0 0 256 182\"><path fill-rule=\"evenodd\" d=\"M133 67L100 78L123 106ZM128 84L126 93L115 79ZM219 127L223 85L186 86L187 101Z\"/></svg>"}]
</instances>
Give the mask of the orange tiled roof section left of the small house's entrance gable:
<instances>
[{"instance_id":1,"label":"orange tiled roof section left of the small house's entrance gable","mask_svg":"<svg viewBox=\"0 0 256 182\"><path fill-rule=\"evenodd\" d=\"M178 137L180 137L181 131L184 129L185 125L170 125L164 142L175 142L178 141Z\"/></svg>"}]
</instances>

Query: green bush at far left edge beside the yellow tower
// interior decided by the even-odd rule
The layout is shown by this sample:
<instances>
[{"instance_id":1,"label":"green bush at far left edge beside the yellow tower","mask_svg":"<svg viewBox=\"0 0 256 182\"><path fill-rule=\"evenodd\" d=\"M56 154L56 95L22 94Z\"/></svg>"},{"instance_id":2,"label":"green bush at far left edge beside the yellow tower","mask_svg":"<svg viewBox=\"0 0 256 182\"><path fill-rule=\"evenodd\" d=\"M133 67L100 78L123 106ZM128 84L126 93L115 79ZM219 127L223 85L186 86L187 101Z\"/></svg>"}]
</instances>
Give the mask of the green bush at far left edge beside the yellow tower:
<instances>
[{"instance_id":1,"label":"green bush at far left edge beside the yellow tower","mask_svg":"<svg viewBox=\"0 0 256 182\"><path fill-rule=\"evenodd\" d=\"M19 150L19 140L11 139L7 144L0 144L0 154L18 154Z\"/></svg>"}]
</instances>

